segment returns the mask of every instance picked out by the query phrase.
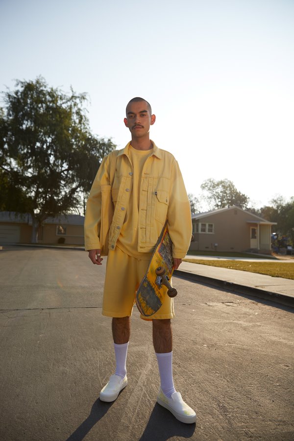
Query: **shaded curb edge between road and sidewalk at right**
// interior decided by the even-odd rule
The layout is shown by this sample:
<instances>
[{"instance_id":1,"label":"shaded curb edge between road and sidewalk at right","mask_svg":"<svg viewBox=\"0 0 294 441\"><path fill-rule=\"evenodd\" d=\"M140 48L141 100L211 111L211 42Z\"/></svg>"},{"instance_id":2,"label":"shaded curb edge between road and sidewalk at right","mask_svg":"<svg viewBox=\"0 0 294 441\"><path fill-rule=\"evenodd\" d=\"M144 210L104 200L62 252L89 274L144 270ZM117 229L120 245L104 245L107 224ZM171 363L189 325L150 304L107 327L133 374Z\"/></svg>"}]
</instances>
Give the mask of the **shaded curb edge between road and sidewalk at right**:
<instances>
[{"instance_id":1,"label":"shaded curb edge between road and sidewalk at right","mask_svg":"<svg viewBox=\"0 0 294 441\"><path fill-rule=\"evenodd\" d=\"M249 295L253 297L262 298L264 300L270 300L275 303L280 303L285 306L294 308L294 297L290 297L281 293L273 293L272 291L262 290L246 285L240 285L234 282L228 282L226 280L214 279L213 277L206 277L203 275L187 272L183 270L174 270L173 274L182 279L189 280L190 282L200 282L205 285L212 285L217 288L229 290L236 294Z\"/></svg>"}]
</instances>

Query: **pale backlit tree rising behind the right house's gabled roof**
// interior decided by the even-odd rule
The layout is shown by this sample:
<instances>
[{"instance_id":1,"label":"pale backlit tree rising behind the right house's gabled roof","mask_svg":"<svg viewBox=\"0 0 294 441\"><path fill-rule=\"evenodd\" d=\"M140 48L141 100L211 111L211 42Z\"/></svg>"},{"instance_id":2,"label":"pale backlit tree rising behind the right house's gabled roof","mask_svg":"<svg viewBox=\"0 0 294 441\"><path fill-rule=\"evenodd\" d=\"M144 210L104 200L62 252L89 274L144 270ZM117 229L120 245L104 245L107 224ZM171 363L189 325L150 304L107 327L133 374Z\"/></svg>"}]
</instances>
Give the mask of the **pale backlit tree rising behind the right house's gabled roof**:
<instances>
[{"instance_id":1,"label":"pale backlit tree rising behind the right house's gabled roof","mask_svg":"<svg viewBox=\"0 0 294 441\"><path fill-rule=\"evenodd\" d=\"M232 205L246 208L249 202L249 197L238 192L233 182L228 179L207 179L201 184L201 190L207 193L205 198L212 210Z\"/></svg>"}]
</instances>

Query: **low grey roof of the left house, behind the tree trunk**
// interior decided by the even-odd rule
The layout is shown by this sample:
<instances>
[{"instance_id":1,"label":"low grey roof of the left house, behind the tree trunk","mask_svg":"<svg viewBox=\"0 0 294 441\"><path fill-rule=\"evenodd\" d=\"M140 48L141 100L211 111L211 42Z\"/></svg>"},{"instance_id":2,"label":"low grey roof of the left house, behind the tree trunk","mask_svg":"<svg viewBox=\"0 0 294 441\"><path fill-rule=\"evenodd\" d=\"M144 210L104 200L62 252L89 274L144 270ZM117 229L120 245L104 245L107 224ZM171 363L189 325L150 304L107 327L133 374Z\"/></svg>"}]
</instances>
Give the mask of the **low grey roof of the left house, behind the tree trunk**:
<instances>
[{"instance_id":1,"label":"low grey roof of the left house, behind the tree trunk","mask_svg":"<svg viewBox=\"0 0 294 441\"><path fill-rule=\"evenodd\" d=\"M47 218L43 223L56 225L83 225L85 217L80 215L60 215L56 218ZM32 224L32 217L29 213L16 213L14 211L0 211L0 222Z\"/></svg>"}]
</instances>

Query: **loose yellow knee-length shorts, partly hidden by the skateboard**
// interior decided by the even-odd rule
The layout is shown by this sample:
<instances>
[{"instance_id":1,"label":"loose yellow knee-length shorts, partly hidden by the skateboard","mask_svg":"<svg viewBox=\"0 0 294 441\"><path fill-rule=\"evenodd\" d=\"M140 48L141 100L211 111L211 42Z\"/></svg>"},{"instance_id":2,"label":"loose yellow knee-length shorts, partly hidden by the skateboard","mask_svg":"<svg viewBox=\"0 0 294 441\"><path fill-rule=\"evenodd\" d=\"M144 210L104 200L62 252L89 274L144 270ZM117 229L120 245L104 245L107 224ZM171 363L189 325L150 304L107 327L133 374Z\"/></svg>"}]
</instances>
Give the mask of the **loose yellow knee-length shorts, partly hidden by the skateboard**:
<instances>
[{"instance_id":1,"label":"loose yellow knee-length shorts, partly hidden by the skateboard","mask_svg":"<svg viewBox=\"0 0 294 441\"><path fill-rule=\"evenodd\" d=\"M148 268L149 261L128 256L120 248L109 251L103 293L102 315L130 317L135 304L136 291ZM173 298L166 295L160 309L148 319L173 319Z\"/></svg>"}]
</instances>

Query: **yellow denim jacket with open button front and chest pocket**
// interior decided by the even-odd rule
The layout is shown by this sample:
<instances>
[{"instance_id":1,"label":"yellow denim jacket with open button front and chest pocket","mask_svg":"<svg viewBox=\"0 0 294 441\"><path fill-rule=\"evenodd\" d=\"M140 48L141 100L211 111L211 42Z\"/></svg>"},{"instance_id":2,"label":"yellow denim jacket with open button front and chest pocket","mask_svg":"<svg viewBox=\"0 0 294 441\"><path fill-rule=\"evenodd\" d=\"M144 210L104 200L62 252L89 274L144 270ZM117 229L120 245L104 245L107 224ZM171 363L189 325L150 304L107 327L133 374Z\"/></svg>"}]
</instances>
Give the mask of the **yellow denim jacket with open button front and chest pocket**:
<instances>
[{"instance_id":1,"label":"yellow denim jacket with open button front and chest pocket","mask_svg":"<svg viewBox=\"0 0 294 441\"><path fill-rule=\"evenodd\" d=\"M152 142L153 143L153 142ZM113 184L110 183L110 163L113 152L103 159L93 182L84 223L85 249L100 249L101 191L111 191L114 216L109 231L109 249L114 249L120 235L133 184L133 168L128 147L119 150ZM115 160L115 159L114 159ZM153 154L145 162L139 203L138 251L152 252L168 219L174 258L185 257L191 242L192 221L187 196L178 163L171 153L153 143Z\"/></svg>"}]
</instances>

